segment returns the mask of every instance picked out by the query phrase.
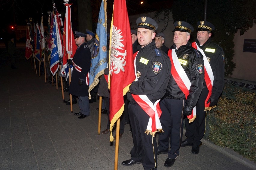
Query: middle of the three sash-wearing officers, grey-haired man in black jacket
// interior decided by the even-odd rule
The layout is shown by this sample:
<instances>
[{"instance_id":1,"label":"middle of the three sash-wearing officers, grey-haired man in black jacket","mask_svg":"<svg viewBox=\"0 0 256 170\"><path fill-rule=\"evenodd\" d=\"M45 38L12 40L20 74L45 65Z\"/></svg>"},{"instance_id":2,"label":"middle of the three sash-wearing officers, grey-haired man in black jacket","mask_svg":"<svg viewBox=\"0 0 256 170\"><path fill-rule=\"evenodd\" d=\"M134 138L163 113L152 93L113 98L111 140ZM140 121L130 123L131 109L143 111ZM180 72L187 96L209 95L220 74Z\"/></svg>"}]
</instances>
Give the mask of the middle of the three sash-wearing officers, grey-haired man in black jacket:
<instances>
[{"instance_id":1,"label":"middle of the three sash-wearing officers, grey-haired man in black jacket","mask_svg":"<svg viewBox=\"0 0 256 170\"><path fill-rule=\"evenodd\" d=\"M164 163L166 167L172 166L179 155L183 117L189 116L190 121L195 118L193 108L197 104L204 80L203 56L188 41L194 28L184 21L176 21L174 26L174 45L168 52L172 63L171 78L160 102L160 122L164 133L159 134L157 148L157 154L168 153Z\"/></svg>"}]
</instances>

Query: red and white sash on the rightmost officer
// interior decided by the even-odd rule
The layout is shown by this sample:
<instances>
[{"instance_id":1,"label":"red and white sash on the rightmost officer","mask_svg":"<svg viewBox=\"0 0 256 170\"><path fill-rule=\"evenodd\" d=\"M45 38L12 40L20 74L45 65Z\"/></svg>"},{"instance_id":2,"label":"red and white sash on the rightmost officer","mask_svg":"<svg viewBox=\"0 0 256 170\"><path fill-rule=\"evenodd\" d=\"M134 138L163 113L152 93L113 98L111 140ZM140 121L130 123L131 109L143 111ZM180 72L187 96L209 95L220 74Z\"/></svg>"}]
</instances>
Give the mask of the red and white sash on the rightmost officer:
<instances>
[{"instance_id":1,"label":"red and white sash on the rightmost officer","mask_svg":"<svg viewBox=\"0 0 256 170\"><path fill-rule=\"evenodd\" d=\"M194 47L195 49L200 51L200 53L203 54L204 79L205 79L205 82L206 82L206 86L209 90L209 93L208 93L208 95L206 97L206 100L205 100L205 109L204 109L204 111L211 110L212 108L216 107L216 105L212 106L212 107L209 107L210 103L207 104L207 101L209 100L209 98L212 95L212 85L213 85L213 80L214 80L212 68L211 68L210 63L208 62L208 60L206 58L206 55L205 55L204 51L200 47L198 47L196 42L192 43L192 47Z\"/></svg>"}]
</instances>

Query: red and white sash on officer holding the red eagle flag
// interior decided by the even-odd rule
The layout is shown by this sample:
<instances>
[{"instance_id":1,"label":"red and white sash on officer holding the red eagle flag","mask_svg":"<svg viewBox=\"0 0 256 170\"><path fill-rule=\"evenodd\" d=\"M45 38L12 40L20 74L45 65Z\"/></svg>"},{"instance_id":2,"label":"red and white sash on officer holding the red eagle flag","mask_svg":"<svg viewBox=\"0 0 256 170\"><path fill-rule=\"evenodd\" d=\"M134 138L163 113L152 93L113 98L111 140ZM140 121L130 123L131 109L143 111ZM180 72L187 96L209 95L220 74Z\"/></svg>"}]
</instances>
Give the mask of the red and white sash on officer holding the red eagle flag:
<instances>
[{"instance_id":1,"label":"red and white sash on officer holding the red eagle flag","mask_svg":"<svg viewBox=\"0 0 256 170\"><path fill-rule=\"evenodd\" d=\"M134 57L134 71L135 75L137 70L136 70L136 56L138 52L133 54ZM138 81L138 78L136 76L135 81ZM146 128L145 134L151 134L153 137L155 136L156 132L163 132L162 125L160 123L160 116L162 114L162 111L160 109L159 105L159 100L157 100L154 104L148 99L147 95L135 95L132 94L134 100L139 104L139 106L148 114L149 116L149 121L148 121L148 126Z\"/></svg>"}]
</instances>

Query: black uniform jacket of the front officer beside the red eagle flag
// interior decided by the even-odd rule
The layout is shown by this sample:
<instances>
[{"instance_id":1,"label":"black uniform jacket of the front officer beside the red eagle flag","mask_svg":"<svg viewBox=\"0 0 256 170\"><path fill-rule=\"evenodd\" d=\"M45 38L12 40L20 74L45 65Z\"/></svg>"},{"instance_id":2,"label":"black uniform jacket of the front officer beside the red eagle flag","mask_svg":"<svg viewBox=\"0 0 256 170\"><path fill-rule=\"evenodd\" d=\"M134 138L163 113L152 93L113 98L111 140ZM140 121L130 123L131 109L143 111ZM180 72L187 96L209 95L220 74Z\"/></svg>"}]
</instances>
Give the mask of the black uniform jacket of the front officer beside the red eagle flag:
<instances>
[{"instance_id":1,"label":"black uniform jacket of the front officer beside the red eagle flag","mask_svg":"<svg viewBox=\"0 0 256 170\"><path fill-rule=\"evenodd\" d=\"M136 104L132 94L147 95L154 104L156 100L161 99L166 93L166 88L170 79L171 62L169 57L156 47L154 41L141 48L137 46L139 53L136 56L136 73L138 81L130 85L128 100L131 104ZM144 62L142 61L144 58ZM148 62L146 63L145 61ZM160 67L157 71L158 64Z\"/></svg>"}]
</instances>

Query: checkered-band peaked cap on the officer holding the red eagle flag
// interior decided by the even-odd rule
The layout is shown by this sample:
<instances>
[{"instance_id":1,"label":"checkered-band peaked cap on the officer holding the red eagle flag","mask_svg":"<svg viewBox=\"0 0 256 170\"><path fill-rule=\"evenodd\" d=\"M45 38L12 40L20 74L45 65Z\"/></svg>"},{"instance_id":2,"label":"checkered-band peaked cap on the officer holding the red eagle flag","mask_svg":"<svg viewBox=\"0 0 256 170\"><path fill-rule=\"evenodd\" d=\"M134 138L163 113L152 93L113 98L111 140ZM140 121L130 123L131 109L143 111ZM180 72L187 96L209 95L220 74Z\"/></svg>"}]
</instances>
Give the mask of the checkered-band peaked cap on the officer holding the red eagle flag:
<instances>
[{"instance_id":1,"label":"checkered-band peaked cap on the officer holding the red eagle flag","mask_svg":"<svg viewBox=\"0 0 256 170\"><path fill-rule=\"evenodd\" d=\"M157 30L157 27L158 27L157 22L154 19L149 18L147 16L139 17L136 20L136 23L138 25L137 28L146 28L146 29L155 31Z\"/></svg>"}]
</instances>

